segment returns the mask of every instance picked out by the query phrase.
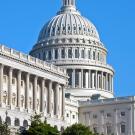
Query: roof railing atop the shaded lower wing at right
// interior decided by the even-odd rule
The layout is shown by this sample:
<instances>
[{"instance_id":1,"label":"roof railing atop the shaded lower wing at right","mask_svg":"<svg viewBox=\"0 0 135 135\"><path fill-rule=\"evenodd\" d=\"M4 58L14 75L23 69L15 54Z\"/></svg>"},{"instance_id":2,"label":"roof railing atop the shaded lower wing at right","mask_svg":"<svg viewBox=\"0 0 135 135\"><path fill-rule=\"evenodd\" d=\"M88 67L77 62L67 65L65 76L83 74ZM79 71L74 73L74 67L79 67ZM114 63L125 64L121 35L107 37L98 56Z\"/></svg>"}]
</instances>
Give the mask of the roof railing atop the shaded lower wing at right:
<instances>
[{"instance_id":1,"label":"roof railing atop the shaded lower wing at right","mask_svg":"<svg viewBox=\"0 0 135 135\"><path fill-rule=\"evenodd\" d=\"M83 105L102 105L102 104L108 104L113 102L129 102L129 101L135 101L134 96L130 97L117 97L117 98L108 98L108 99L100 99L100 100L88 100L88 101L79 101L79 106Z\"/></svg>"}]
</instances>

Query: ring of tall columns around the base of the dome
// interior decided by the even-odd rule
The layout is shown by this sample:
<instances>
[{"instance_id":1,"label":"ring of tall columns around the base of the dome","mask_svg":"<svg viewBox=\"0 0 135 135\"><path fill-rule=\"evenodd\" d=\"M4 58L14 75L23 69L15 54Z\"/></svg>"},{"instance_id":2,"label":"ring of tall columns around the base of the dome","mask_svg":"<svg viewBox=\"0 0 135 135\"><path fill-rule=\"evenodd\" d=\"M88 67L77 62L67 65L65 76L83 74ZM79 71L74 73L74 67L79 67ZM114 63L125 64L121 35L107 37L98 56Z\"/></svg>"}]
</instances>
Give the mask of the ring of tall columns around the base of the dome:
<instances>
[{"instance_id":1,"label":"ring of tall columns around the base of the dome","mask_svg":"<svg viewBox=\"0 0 135 135\"><path fill-rule=\"evenodd\" d=\"M113 92L113 75L90 69L67 69L72 88L102 89Z\"/></svg>"}]
</instances>

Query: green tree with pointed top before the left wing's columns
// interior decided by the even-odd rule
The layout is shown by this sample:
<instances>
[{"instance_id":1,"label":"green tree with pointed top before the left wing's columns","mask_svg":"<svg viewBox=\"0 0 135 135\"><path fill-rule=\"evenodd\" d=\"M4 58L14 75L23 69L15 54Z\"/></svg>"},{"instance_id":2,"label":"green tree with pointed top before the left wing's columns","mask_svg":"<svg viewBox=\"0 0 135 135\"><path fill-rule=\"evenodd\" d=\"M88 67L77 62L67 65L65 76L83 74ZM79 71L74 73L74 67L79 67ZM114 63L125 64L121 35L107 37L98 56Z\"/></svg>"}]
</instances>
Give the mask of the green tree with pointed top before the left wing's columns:
<instances>
[{"instance_id":1,"label":"green tree with pointed top before the left wing's columns","mask_svg":"<svg viewBox=\"0 0 135 135\"><path fill-rule=\"evenodd\" d=\"M31 126L23 131L21 135L59 135L57 128L41 121L41 115L31 117Z\"/></svg>"}]
</instances>

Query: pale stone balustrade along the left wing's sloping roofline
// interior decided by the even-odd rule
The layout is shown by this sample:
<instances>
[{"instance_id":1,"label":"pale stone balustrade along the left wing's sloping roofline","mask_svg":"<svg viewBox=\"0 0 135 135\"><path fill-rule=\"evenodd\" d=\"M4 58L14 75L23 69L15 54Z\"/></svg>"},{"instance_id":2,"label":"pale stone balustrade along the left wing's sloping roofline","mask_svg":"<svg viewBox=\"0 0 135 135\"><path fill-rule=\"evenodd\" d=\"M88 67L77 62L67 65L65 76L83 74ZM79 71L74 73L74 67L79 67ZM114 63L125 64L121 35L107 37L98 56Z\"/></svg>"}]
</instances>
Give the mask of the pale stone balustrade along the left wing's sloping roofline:
<instances>
[{"instance_id":1,"label":"pale stone balustrade along the left wing's sloping roofline","mask_svg":"<svg viewBox=\"0 0 135 135\"><path fill-rule=\"evenodd\" d=\"M16 59L22 60L24 62L27 62L29 64L34 64L35 66L38 66L39 68L44 68L51 70L53 72L61 73L63 75L66 75L66 70L57 66L54 66L53 64L47 63L45 61L42 61L40 59L34 58L30 55L24 54L22 52L16 51L14 49L8 48L4 45L0 45L0 52L4 55L8 55L10 57L14 57Z\"/></svg>"}]
</instances>

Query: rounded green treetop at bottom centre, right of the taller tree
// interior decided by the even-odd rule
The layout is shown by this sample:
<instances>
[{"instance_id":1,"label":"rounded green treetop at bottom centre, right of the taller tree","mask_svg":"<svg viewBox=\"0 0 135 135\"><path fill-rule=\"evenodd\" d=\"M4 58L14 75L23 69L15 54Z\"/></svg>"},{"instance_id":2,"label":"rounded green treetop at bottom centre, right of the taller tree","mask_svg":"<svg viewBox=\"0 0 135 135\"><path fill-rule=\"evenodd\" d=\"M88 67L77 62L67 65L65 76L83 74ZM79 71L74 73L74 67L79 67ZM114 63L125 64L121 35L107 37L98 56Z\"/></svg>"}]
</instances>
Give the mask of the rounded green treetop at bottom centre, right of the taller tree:
<instances>
[{"instance_id":1,"label":"rounded green treetop at bottom centre, right of the taller tree","mask_svg":"<svg viewBox=\"0 0 135 135\"><path fill-rule=\"evenodd\" d=\"M89 127L86 127L82 124L74 124L70 127L67 127L62 135L96 135L92 133Z\"/></svg>"}]
</instances>

